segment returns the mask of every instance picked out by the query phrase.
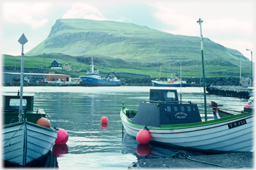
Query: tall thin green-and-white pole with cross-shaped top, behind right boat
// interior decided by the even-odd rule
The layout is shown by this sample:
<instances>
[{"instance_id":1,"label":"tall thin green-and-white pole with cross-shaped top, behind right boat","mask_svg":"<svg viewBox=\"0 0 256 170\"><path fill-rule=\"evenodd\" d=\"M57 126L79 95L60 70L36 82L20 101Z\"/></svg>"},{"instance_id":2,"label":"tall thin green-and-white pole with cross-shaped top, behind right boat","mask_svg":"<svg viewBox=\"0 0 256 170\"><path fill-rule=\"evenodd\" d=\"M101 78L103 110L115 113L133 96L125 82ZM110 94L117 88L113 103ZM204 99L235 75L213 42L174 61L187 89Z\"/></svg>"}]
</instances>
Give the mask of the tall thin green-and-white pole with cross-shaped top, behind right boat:
<instances>
[{"instance_id":1,"label":"tall thin green-and-white pole with cross-shaped top, behind right boat","mask_svg":"<svg viewBox=\"0 0 256 170\"><path fill-rule=\"evenodd\" d=\"M205 121L207 121L207 105L206 105L206 89L205 89L205 62L203 60L203 35L202 35L202 26L201 23L203 23L203 20L199 18L197 21L200 25L200 36L201 36L201 54L202 54L202 64L203 64L203 97L205 102Z\"/></svg>"}]
</instances>

